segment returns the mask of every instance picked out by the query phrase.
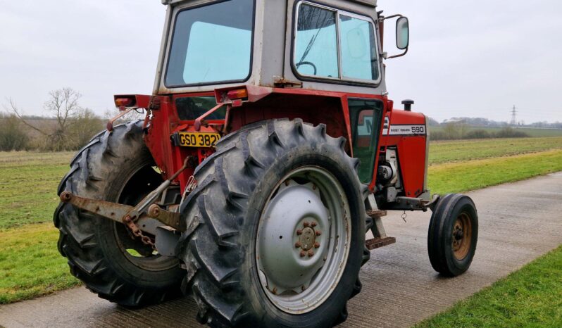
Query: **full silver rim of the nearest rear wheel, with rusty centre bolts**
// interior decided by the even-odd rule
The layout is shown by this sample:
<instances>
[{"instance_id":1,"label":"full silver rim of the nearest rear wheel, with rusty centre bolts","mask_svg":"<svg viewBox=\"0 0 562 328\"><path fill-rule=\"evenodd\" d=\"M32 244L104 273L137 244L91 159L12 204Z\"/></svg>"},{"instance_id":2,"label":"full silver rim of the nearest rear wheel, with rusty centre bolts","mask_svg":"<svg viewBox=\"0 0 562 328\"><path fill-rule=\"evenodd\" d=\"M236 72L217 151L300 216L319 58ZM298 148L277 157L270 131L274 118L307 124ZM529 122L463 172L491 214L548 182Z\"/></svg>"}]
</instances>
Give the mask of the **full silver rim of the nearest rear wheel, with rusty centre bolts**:
<instances>
[{"instance_id":1,"label":"full silver rim of the nearest rear wheel, with rusty centre bolts","mask_svg":"<svg viewBox=\"0 0 562 328\"><path fill-rule=\"evenodd\" d=\"M258 223L256 265L263 291L286 313L318 308L339 283L350 244L349 202L336 177L316 166L289 172Z\"/></svg>"}]
</instances>

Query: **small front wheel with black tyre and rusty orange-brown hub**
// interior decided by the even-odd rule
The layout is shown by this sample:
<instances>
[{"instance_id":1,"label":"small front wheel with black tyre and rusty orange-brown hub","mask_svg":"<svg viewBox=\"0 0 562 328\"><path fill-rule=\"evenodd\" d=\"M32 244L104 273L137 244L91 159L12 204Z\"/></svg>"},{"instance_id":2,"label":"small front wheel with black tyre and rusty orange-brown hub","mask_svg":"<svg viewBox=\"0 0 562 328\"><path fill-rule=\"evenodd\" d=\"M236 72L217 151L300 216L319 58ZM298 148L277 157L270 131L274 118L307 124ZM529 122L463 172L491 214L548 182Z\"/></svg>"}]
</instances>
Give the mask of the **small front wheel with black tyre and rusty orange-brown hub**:
<instances>
[{"instance_id":1,"label":"small front wheel with black tyre and rusty orange-brown hub","mask_svg":"<svg viewBox=\"0 0 562 328\"><path fill-rule=\"evenodd\" d=\"M476 251L478 215L470 197L447 194L431 215L427 250L435 271L456 277L468 270Z\"/></svg>"}]
</instances>

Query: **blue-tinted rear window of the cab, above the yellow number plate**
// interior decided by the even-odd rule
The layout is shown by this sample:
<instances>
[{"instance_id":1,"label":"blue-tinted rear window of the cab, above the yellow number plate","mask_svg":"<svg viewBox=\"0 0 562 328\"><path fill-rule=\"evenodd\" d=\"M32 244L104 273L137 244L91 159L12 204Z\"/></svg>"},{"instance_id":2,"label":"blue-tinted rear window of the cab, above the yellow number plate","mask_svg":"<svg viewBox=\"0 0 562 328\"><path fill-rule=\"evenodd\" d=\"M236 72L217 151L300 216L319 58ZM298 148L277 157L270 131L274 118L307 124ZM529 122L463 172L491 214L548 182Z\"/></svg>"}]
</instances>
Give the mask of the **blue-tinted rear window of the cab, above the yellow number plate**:
<instances>
[{"instance_id":1,"label":"blue-tinted rear window of the cab, above the yellow number plate","mask_svg":"<svg viewBox=\"0 0 562 328\"><path fill-rule=\"evenodd\" d=\"M250 75L254 0L229 0L176 15L166 87L242 82Z\"/></svg>"}]
</instances>

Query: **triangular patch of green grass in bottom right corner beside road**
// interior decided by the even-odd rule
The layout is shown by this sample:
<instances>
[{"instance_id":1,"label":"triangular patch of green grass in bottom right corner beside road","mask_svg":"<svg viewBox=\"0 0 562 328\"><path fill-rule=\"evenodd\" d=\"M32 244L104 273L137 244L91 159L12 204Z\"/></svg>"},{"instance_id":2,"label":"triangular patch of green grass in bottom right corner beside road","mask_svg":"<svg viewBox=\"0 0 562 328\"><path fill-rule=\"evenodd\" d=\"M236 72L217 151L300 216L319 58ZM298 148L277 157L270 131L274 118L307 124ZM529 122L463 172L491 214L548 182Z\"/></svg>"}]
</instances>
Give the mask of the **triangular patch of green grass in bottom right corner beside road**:
<instances>
[{"instance_id":1,"label":"triangular patch of green grass in bottom right corner beside road","mask_svg":"<svg viewBox=\"0 0 562 328\"><path fill-rule=\"evenodd\" d=\"M561 295L562 246L415 327L562 327Z\"/></svg>"}]
</instances>

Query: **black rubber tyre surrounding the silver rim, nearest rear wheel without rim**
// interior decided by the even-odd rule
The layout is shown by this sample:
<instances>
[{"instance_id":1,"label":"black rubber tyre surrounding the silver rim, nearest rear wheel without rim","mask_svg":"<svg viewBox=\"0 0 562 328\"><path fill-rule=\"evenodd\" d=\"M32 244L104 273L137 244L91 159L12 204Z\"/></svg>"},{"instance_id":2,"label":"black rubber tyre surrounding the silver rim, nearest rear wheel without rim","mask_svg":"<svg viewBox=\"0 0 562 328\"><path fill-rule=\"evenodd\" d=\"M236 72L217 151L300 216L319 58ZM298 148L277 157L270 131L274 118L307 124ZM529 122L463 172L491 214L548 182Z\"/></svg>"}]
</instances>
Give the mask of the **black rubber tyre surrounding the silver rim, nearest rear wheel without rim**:
<instances>
[{"instance_id":1,"label":"black rubber tyre surrounding the silver rim, nearest rear wheel without rim","mask_svg":"<svg viewBox=\"0 0 562 328\"><path fill-rule=\"evenodd\" d=\"M187 231L178 244L187 266L182 283L199 306L198 320L212 327L331 327L346 320L346 302L361 291L358 271L365 248L366 187L345 139L301 120L268 120L234 132L195 171L198 187L182 203ZM318 165L337 177L351 208L351 247L344 274L324 303L292 315L268 301L256 267L256 230L274 186L287 172Z\"/></svg>"}]
</instances>

